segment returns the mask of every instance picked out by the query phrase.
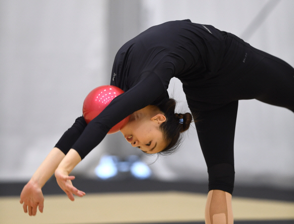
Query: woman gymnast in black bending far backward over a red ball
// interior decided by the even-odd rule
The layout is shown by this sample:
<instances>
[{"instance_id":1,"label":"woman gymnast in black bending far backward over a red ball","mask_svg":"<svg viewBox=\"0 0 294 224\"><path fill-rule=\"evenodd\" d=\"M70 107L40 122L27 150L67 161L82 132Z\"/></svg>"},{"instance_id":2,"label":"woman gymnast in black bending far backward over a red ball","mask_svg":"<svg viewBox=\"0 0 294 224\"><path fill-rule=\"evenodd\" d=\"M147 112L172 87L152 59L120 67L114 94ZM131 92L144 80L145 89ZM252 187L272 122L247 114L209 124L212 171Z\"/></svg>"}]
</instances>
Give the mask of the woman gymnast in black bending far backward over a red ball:
<instances>
[{"instance_id":1,"label":"woman gymnast in black bending far backward over a red ball","mask_svg":"<svg viewBox=\"0 0 294 224\"><path fill-rule=\"evenodd\" d=\"M175 113L167 93L172 77L182 82L190 113ZM194 121L209 175L206 224L233 223L234 137L239 100L256 99L294 112L294 69L239 37L190 20L153 26L118 51L111 85L125 93L88 125L84 117L63 134L21 193L24 212L43 212L42 187L55 173L70 200L84 192L72 186L71 170L115 124L144 153L173 153Z\"/></svg>"}]
</instances>

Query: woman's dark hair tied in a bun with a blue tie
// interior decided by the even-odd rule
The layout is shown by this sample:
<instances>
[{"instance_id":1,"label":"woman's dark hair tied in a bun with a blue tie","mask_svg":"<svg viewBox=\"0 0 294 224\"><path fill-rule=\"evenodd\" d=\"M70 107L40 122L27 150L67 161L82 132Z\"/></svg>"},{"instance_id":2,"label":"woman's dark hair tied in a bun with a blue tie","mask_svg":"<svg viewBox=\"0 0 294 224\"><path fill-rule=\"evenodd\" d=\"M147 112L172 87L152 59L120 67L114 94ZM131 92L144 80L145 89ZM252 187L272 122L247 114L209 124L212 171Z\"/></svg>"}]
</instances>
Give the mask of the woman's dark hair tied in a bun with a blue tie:
<instances>
[{"instance_id":1,"label":"woman's dark hair tied in a bun with a blue tie","mask_svg":"<svg viewBox=\"0 0 294 224\"><path fill-rule=\"evenodd\" d=\"M166 121L159 126L163 139L167 142L166 148L158 153L160 155L170 155L177 150L181 143L181 133L188 130L192 122L190 113L174 113L175 105L176 101L170 98L165 104L158 106L166 117Z\"/></svg>"}]
</instances>

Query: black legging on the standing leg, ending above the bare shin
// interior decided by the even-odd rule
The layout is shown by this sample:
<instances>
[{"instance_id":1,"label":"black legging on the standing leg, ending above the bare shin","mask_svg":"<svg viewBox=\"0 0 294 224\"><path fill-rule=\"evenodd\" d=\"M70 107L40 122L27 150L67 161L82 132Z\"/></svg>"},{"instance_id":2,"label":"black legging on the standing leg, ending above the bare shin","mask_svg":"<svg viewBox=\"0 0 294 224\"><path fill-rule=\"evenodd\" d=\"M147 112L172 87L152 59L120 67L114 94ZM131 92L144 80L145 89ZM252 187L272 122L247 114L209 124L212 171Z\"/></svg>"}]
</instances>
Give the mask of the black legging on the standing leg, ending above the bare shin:
<instances>
[{"instance_id":1,"label":"black legging on the standing leg, ending above the bare shin","mask_svg":"<svg viewBox=\"0 0 294 224\"><path fill-rule=\"evenodd\" d=\"M233 193L237 111L238 101L234 101L221 108L194 115L199 143L207 165L209 191Z\"/></svg>"}]
</instances>

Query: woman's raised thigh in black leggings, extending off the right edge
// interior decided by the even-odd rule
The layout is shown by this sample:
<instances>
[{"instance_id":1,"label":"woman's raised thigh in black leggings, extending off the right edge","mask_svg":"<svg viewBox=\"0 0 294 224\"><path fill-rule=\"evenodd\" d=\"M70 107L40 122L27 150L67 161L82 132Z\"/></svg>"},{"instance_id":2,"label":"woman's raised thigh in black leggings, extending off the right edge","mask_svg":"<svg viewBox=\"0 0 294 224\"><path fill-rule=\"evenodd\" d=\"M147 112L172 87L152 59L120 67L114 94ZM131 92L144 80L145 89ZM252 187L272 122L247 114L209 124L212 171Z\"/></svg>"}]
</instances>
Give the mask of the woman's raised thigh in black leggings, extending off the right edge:
<instances>
[{"instance_id":1,"label":"woman's raised thigh in black leggings, extending off the right edge","mask_svg":"<svg viewBox=\"0 0 294 224\"><path fill-rule=\"evenodd\" d=\"M294 112L294 68L283 60L254 49L264 58L228 86L234 99L256 99Z\"/></svg>"}]
</instances>

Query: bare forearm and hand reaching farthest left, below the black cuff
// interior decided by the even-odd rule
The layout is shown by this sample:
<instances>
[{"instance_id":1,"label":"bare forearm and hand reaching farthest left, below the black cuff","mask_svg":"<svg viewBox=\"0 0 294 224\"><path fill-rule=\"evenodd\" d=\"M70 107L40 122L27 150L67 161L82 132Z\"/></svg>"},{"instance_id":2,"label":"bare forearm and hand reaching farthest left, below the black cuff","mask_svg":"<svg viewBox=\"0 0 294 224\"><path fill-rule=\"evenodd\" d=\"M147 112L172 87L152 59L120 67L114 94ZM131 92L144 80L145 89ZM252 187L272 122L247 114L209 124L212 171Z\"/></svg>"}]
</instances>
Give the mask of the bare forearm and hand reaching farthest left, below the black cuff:
<instances>
[{"instance_id":1,"label":"bare forearm and hand reaching farthest left, below the black cuff","mask_svg":"<svg viewBox=\"0 0 294 224\"><path fill-rule=\"evenodd\" d=\"M39 211L43 212L44 196L42 187L53 175L64 153L58 148L53 148L39 168L35 171L29 182L24 186L20 194L20 203L23 204L23 211L29 215L35 215L39 206Z\"/></svg>"}]
</instances>

